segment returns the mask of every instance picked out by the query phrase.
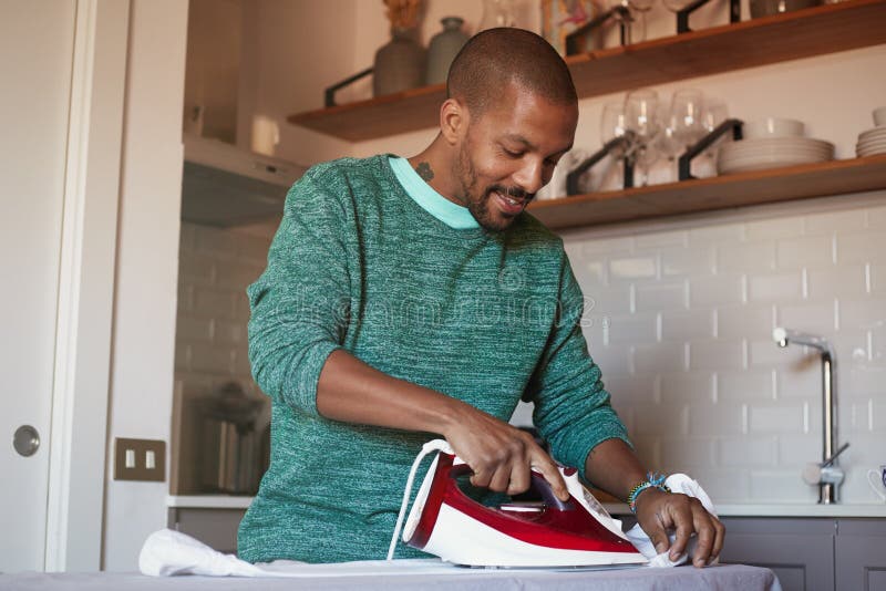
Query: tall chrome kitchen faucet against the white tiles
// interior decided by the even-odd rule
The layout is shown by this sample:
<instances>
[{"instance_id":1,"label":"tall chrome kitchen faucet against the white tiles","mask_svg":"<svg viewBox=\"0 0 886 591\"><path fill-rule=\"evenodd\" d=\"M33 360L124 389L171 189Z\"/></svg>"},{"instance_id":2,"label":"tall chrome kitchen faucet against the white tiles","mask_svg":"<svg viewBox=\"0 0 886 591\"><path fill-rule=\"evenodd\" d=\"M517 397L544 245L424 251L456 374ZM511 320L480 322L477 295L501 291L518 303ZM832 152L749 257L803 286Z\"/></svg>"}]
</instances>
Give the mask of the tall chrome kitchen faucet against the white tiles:
<instances>
[{"instance_id":1,"label":"tall chrome kitchen faucet against the white tiles","mask_svg":"<svg viewBox=\"0 0 886 591\"><path fill-rule=\"evenodd\" d=\"M772 331L772 338L780 348L789 344L811 346L818 351L822 357L822 462L810 464L803 470L803 479L811 485L818 486L818 502L831 505L837 502L837 486L843 481L844 473L837 465L837 456L846 450L848 443L843 444L834 452L837 442L837 406L836 390L834 388L834 374L836 356L834 350L824 336L806 334L803 332L783 329Z\"/></svg>"}]
</instances>

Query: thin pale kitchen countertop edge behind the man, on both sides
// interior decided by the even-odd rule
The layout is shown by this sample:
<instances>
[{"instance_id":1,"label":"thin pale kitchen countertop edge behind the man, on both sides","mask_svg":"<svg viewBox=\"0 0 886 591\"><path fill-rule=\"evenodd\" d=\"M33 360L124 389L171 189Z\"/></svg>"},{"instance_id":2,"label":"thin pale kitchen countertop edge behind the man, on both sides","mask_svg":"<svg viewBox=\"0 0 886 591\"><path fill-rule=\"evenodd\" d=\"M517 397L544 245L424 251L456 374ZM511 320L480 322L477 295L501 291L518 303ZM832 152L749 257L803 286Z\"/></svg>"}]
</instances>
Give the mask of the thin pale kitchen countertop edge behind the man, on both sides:
<instances>
[{"instance_id":1,"label":"thin pale kitchen countertop edge behind the man, on both sides","mask_svg":"<svg viewBox=\"0 0 886 591\"><path fill-rule=\"evenodd\" d=\"M192 509L246 509L253 497L227 495L167 496L169 508ZM606 504L606 510L612 515L627 515L630 511L624 504ZM717 506L722 517L883 517L886 518L886 502L867 504L724 504Z\"/></svg>"}]
</instances>

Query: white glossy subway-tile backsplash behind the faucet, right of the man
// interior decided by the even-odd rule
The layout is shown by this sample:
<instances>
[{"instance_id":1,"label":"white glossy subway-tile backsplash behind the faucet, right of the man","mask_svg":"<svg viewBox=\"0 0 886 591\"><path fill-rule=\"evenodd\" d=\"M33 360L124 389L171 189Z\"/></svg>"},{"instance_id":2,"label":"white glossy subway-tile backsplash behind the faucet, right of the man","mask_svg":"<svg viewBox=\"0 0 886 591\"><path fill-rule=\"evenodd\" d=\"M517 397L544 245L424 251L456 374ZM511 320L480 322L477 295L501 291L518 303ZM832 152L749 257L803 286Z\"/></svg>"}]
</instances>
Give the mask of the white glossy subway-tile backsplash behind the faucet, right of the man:
<instances>
[{"instance_id":1,"label":"white glossy subway-tile backsplash behind the faucet, right of the man","mask_svg":"<svg viewBox=\"0 0 886 591\"><path fill-rule=\"evenodd\" d=\"M838 438L852 444L841 494L873 501L859 475L886 460L884 198L566 235L580 243L574 266L585 257L618 274L606 288L579 279L621 331L591 355L651 469L682 468L717 502L817 500L801 470L821 462L821 364L803 348L775 346L772 329L784 325L837 351ZM653 318L660 335L650 342Z\"/></svg>"}]
</instances>

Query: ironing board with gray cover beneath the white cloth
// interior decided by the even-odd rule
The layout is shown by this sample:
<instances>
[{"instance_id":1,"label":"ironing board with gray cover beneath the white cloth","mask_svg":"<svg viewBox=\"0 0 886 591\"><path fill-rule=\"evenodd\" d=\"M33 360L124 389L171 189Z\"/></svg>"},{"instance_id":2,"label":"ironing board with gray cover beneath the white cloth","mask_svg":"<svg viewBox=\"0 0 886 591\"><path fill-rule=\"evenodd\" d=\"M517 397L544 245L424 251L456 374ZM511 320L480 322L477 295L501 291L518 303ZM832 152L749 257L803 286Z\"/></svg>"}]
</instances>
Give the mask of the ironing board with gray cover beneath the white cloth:
<instances>
[{"instance_id":1,"label":"ironing board with gray cover beneath the white cloth","mask_svg":"<svg viewBox=\"0 0 886 591\"><path fill-rule=\"evenodd\" d=\"M576 572L476 571L434 576L379 576L323 579L243 579L227 577L156 578L134 573L18 573L0 574L3 591L61 591L87 589L96 591L390 591L412 589L460 589L471 591L657 591L664 590L746 590L781 591L775 574L769 569L742 564L720 564L707 569L627 569Z\"/></svg>"}]
</instances>

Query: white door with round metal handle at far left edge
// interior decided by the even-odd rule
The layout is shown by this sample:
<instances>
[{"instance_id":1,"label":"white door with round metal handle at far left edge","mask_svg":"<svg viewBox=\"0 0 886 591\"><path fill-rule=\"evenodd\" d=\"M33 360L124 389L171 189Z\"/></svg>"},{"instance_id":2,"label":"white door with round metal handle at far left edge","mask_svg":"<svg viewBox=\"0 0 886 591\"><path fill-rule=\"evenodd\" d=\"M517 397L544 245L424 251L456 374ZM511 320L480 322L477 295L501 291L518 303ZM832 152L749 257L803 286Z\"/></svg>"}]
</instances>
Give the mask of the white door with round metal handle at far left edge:
<instances>
[{"instance_id":1,"label":"white door with round metal handle at far left edge","mask_svg":"<svg viewBox=\"0 0 886 591\"><path fill-rule=\"evenodd\" d=\"M44 567L74 18L73 0L0 2L3 572Z\"/></svg>"}]
</instances>

